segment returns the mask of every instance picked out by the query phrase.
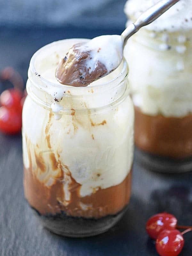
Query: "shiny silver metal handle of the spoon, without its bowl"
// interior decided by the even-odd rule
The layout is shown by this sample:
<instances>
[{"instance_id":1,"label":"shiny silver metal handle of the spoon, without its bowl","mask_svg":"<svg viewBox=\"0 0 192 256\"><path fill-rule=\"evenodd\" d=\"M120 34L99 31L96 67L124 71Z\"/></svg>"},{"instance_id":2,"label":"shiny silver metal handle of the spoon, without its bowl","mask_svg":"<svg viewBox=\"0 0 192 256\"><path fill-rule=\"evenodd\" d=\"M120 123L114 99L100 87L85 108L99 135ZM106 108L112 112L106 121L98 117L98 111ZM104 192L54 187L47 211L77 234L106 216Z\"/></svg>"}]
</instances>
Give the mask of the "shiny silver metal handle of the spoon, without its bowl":
<instances>
[{"instance_id":1,"label":"shiny silver metal handle of the spoon, without its bowl","mask_svg":"<svg viewBox=\"0 0 192 256\"><path fill-rule=\"evenodd\" d=\"M121 34L124 39L124 45L129 37L135 34L141 27L146 26L152 21L156 20L178 1L179 0L161 0L157 4L150 7L147 11L143 12L135 23L130 24Z\"/></svg>"}]
</instances>

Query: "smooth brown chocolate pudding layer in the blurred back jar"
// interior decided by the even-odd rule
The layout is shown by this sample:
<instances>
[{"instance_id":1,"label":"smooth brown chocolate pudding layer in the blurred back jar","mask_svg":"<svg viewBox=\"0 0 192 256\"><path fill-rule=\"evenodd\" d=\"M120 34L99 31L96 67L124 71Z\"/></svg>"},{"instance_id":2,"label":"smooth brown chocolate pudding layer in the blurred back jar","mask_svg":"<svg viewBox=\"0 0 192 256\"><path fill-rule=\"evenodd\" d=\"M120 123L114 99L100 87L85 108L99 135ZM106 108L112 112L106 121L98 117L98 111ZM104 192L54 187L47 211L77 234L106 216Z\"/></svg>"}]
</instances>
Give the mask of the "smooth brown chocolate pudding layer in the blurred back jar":
<instances>
[{"instance_id":1,"label":"smooth brown chocolate pudding layer in the blurred back jar","mask_svg":"<svg viewBox=\"0 0 192 256\"><path fill-rule=\"evenodd\" d=\"M192 156L192 115L149 116L135 107L135 144L157 156L174 159Z\"/></svg>"}]
</instances>

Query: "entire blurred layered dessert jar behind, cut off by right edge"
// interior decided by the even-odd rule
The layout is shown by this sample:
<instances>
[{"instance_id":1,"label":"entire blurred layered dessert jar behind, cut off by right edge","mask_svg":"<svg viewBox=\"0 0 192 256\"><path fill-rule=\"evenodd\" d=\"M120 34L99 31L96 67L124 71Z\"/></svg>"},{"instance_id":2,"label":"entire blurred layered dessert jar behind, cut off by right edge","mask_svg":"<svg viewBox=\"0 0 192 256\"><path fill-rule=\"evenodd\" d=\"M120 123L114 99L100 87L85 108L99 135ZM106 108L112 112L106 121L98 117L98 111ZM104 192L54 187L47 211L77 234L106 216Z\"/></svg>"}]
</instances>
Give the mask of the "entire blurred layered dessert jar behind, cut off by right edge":
<instances>
[{"instance_id":1,"label":"entire blurred layered dessert jar behind, cut off by right edge","mask_svg":"<svg viewBox=\"0 0 192 256\"><path fill-rule=\"evenodd\" d=\"M158 0L128 0L127 25ZM180 0L128 40L135 144L153 170L192 170L192 1Z\"/></svg>"}]
</instances>

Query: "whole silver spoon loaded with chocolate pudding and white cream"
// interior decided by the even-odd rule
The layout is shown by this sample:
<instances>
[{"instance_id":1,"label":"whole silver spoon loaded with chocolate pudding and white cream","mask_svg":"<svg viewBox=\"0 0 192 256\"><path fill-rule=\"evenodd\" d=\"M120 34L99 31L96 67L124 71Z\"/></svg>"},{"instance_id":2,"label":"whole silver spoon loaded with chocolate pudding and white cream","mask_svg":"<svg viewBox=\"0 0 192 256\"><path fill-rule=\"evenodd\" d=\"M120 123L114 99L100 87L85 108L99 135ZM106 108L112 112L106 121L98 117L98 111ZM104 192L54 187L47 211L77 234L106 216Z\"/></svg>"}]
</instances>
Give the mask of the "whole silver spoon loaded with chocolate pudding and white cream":
<instances>
[{"instance_id":1,"label":"whole silver spoon loaded with chocolate pudding and white cream","mask_svg":"<svg viewBox=\"0 0 192 256\"><path fill-rule=\"evenodd\" d=\"M83 87L116 69L123 59L123 49L130 36L156 20L179 0L161 0L129 25L119 35L98 36L73 45L60 60L56 79L65 85Z\"/></svg>"}]
</instances>

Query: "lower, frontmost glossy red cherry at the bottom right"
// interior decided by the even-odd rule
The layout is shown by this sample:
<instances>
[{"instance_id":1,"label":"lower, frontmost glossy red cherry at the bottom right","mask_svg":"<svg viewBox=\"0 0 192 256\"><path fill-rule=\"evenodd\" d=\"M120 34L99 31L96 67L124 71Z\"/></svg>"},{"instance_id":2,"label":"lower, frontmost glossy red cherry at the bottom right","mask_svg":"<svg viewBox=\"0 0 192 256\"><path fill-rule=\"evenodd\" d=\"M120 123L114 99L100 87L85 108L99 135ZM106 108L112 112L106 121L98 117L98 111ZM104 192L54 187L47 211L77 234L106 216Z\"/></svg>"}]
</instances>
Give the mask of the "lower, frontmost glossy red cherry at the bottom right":
<instances>
[{"instance_id":1,"label":"lower, frontmost glossy red cherry at the bottom right","mask_svg":"<svg viewBox=\"0 0 192 256\"><path fill-rule=\"evenodd\" d=\"M184 238L177 229L164 229L157 237L156 250L160 256L177 256L184 246Z\"/></svg>"}]
</instances>

